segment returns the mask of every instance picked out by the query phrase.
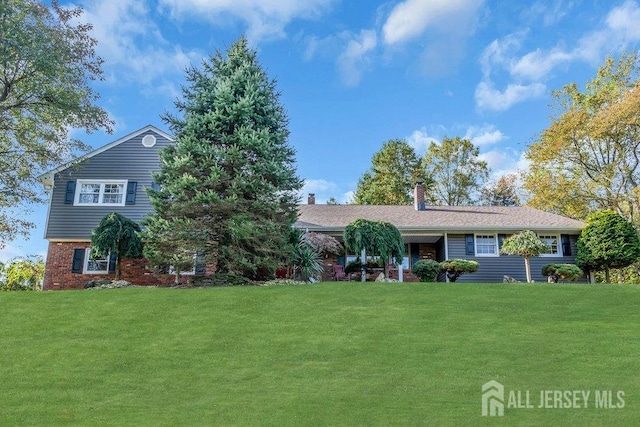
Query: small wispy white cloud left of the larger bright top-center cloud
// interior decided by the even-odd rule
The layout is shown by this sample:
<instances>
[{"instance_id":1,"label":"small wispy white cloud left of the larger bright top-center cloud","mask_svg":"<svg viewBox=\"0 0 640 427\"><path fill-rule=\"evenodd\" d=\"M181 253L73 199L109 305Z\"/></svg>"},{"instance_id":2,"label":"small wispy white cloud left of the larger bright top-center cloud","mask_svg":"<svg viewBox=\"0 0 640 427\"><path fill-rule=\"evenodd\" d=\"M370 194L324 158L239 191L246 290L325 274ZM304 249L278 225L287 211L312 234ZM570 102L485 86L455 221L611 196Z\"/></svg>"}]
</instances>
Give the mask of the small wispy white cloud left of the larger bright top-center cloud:
<instances>
[{"instance_id":1,"label":"small wispy white cloud left of the larger bright top-center cloud","mask_svg":"<svg viewBox=\"0 0 640 427\"><path fill-rule=\"evenodd\" d=\"M370 52L377 45L377 36L373 30L361 30L358 35L346 35L349 38L344 51L338 56L337 66L342 81L347 86L356 86L362 78L362 68L371 63Z\"/></svg>"}]
</instances>

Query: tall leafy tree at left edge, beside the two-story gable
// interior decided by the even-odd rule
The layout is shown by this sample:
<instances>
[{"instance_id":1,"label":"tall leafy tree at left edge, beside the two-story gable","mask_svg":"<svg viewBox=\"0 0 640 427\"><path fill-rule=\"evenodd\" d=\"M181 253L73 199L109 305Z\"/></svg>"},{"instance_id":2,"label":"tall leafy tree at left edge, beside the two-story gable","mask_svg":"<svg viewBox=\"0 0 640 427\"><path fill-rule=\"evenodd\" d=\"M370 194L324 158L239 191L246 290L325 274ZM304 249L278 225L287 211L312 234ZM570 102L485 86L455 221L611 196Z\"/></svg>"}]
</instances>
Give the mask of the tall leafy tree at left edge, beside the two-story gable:
<instances>
[{"instance_id":1,"label":"tall leafy tree at left edge, beside the two-story gable","mask_svg":"<svg viewBox=\"0 0 640 427\"><path fill-rule=\"evenodd\" d=\"M89 84L102 60L81 13L55 0L0 2L0 247L33 226L21 210L43 201L40 174L88 149L69 132L111 131Z\"/></svg>"}]
</instances>

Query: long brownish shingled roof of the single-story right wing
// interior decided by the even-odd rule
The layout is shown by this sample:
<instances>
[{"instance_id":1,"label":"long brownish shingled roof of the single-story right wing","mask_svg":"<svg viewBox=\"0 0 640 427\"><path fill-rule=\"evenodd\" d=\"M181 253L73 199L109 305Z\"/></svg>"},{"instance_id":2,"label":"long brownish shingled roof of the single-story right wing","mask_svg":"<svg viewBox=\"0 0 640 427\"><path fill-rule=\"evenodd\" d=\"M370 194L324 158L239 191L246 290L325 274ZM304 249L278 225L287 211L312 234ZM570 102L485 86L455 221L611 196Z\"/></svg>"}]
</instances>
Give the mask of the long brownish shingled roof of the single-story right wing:
<instances>
[{"instance_id":1,"label":"long brownish shingled roof of the single-story right wing","mask_svg":"<svg viewBox=\"0 0 640 427\"><path fill-rule=\"evenodd\" d=\"M390 222L405 233L557 230L580 232L585 223L527 206L299 205L295 226L312 231L343 230L356 219ZM403 234L405 234L403 233Z\"/></svg>"}]
</instances>

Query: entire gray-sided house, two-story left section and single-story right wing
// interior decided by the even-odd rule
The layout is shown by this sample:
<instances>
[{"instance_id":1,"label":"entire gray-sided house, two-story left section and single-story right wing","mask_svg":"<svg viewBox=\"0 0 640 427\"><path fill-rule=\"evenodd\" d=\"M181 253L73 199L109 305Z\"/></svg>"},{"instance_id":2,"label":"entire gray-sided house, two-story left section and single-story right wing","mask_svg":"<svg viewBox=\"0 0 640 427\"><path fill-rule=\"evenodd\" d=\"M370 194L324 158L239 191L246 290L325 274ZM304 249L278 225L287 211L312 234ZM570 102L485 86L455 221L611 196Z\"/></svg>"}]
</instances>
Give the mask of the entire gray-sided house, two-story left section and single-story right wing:
<instances>
[{"instance_id":1,"label":"entire gray-sided house, two-story left section and single-story right wing","mask_svg":"<svg viewBox=\"0 0 640 427\"><path fill-rule=\"evenodd\" d=\"M140 221L152 211L146 188L153 187L152 172L160 169L158 150L173 143L170 135L146 126L42 175L49 190L44 289L82 289L89 280L113 277L112 258L89 258L91 231L110 212ZM574 262L576 241L584 226L528 207L426 206L420 185L414 206L317 205L310 195L299 212L296 227L339 240L344 228L358 218L394 224L406 245L403 272L408 279L411 266L419 259L466 258L479 261L480 269L462 276L461 281L499 282L504 275L524 280L522 259L499 255L499 248L508 235L530 229L552 248L550 254L532 260L534 279L542 281L542 265ZM328 258L326 263L344 264L356 254L346 255ZM202 274L203 270L194 265L192 273ZM145 260L125 260L122 278L142 285L173 280L155 274Z\"/></svg>"}]
</instances>

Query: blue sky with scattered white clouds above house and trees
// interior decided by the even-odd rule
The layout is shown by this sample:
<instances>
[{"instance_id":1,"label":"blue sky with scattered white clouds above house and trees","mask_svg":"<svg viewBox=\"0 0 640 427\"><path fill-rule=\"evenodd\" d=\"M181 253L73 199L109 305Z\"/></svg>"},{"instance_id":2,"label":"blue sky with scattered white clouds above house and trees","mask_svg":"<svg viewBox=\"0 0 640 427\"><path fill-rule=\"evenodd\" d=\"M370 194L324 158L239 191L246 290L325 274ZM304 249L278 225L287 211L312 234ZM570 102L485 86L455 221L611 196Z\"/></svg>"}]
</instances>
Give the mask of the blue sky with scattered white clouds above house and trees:
<instances>
[{"instance_id":1,"label":"blue sky with scattered white clouds above house and trees","mask_svg":"<svg viewBox=\"0 0 640 427\"><path fill-rule=\"evenodd\" d=\"M61 1L63 5L70 4ZM371 156L392 138L423 154L444 136L470 138L494 174L549 125L551 92L592 78L607 55L640 42L635 0L76 0L94 25L106 80L99 104L112 135L167 129L184 69L242 34L278 82L306 194L349 200ZM0 261L46 253L46 206L28 241Z\"/></svg>"}]
</instances>

